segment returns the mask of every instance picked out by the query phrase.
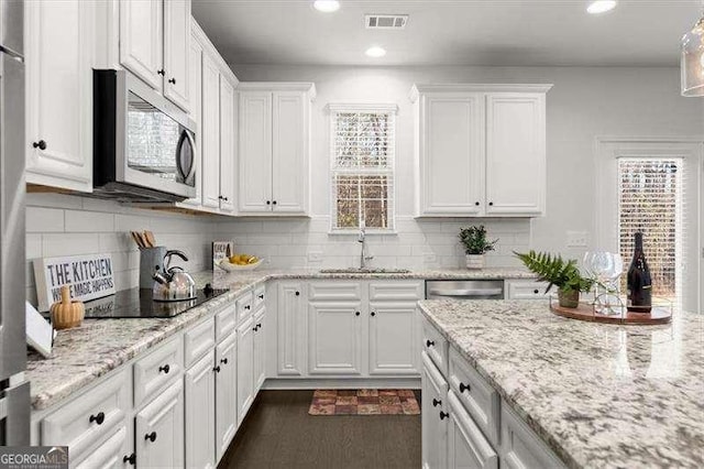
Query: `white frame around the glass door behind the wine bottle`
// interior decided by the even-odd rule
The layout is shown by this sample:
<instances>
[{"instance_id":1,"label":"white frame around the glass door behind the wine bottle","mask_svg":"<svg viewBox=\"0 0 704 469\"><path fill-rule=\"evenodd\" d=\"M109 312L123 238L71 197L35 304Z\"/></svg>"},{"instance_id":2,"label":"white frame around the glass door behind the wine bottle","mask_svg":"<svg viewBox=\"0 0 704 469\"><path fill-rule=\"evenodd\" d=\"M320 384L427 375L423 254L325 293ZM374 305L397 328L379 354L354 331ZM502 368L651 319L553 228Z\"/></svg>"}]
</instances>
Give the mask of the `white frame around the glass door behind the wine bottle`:
<instances>
[{"instance_id":1,"label":"white frame around the glass door behind the wine bottle","mask_svg":"<svg viewBox=\"0 0 704 469\"><path fill-rule=\"evenodd\" d=\"M596 174L594 197L597 208L594 217L595 243L593 249L618 252L618 157L682 157L688 174L685 184L685 228L682 261L686 297L683 307L704 309L704 138L700 137L598 137L595 142ZM702 194L702 196L700 196ZM700 199L701 197L701 199ZM700 207L700 204L702 207ZM624 259L628 265L630 259Z\"/></svg>"}]
</instances>

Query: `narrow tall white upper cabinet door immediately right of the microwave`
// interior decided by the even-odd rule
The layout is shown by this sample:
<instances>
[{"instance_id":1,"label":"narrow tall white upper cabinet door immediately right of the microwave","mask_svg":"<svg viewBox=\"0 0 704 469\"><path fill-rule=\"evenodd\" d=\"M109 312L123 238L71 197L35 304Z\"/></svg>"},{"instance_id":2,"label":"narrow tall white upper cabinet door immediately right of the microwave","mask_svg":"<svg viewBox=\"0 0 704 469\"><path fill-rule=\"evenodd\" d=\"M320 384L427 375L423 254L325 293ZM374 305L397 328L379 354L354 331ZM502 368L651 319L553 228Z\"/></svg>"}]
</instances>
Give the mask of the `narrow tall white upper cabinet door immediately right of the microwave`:
<instances>
[{"instance_id":1,"label":"narrow tall white upper cabinet door immediately right of the microwave","mask_svg":"<svg viewBox=\"0 0 704 469\"><path fill-rule=\"evenodd\" d=\"M195 37L190 40L188 57L188 110L196 122L196 197L184 204L200 206L202 204L202 46Z\"/></svg>"}]
</instances>

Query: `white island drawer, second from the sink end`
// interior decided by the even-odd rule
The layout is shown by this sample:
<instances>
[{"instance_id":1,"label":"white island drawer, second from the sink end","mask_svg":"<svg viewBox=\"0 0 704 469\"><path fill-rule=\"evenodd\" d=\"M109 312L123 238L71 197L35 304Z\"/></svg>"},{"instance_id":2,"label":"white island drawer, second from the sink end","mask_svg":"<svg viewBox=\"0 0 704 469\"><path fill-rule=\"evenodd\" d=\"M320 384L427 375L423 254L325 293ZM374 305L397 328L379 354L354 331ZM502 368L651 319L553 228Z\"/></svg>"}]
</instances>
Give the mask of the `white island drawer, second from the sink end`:
<instances>
[{"instance_id":1,"label":"white island drawer, second from the sink end","mask_svg":"<svg viewBox=\"0 0 704 469\"><path fill-rule=\"evenodd\" d=\"M498 443L501 397L463 357L450 347L450 389L494 445Z\"/></svg>"}]
</instances>

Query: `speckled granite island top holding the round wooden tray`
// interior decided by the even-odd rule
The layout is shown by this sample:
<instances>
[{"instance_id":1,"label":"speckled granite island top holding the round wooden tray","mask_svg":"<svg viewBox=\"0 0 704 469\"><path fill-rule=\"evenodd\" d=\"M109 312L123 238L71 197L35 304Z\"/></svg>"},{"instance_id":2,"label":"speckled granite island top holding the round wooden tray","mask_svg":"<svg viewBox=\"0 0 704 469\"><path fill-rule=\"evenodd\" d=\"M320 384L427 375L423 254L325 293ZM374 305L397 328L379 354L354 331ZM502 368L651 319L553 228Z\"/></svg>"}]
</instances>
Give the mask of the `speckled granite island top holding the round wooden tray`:
<instances>
[{"instance_id":1,"label":"speckled granite island top holding the round wooden tray","mask_svg":"<svg viewBox=\"0 0 704 469\"><path fill-rule=\"evenodd\" d=\"M543 301L420 308L569 467L704 467L704 315L617 326Z\"/></svg>"}]
</instances>

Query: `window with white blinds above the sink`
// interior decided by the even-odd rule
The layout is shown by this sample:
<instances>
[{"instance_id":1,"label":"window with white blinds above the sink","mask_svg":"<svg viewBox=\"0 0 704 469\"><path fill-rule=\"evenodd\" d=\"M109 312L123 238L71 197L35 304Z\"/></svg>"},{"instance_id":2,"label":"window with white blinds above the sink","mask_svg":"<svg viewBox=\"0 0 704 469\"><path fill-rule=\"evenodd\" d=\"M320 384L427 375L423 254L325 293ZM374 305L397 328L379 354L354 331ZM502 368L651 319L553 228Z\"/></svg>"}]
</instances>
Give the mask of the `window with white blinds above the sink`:
<instances>
[{"instance_id":1,"label":"window with white blinds above the sink","mask_svg":"<svg viewBox=\"0 0 704 469\"><path fill-rule=\"evenodd\" d=\"M396 107L330 106L331 229L394 229Z\"/></svg>"}]
</instances>

